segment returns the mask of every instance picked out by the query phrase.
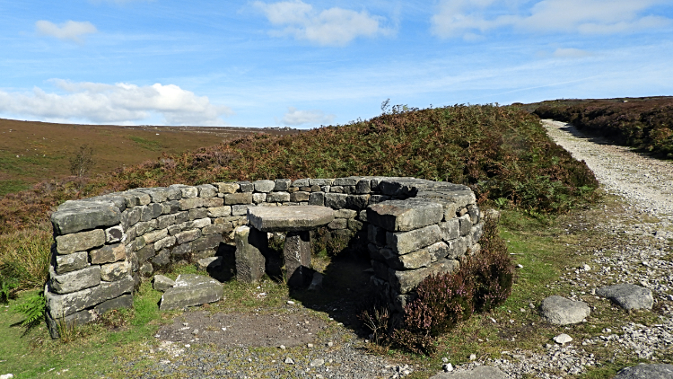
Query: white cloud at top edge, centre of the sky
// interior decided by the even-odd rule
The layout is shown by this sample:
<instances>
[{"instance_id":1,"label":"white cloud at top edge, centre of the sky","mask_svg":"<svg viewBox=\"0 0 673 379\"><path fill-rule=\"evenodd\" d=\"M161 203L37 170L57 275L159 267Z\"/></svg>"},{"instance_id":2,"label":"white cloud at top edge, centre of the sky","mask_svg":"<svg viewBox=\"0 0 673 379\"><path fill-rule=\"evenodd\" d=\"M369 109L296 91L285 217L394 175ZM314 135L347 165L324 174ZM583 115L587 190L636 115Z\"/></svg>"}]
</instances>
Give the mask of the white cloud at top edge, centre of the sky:
<instances>
[{"instance_id":1,"label":"white cloud at top edge, centre of the sky","mask_svg":"<svg viewBox=\"0 0 673 379\"><path fill-rule=\"evenodd\" d=\"M267 16L271 24L282 28L272 31L271 35L290 35L321 46L345 46L358 37L371 38L394 32L380 26L382 17L372 16L367 11L334 7L318 12L301 0L273 4L256 1L253 5Z\"/></svg>"}]
</instances>

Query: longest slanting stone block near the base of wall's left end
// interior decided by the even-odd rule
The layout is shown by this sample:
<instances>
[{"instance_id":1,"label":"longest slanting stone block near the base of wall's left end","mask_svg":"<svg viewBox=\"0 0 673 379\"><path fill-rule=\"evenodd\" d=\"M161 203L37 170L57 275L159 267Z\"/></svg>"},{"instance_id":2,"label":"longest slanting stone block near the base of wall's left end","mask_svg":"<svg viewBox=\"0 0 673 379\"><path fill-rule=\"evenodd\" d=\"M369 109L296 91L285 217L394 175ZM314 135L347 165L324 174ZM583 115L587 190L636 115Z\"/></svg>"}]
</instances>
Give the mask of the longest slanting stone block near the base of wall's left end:
<instances>
[{"instance_id":1,"label":"longest slanting stone block near the base of wall's left end","mask_svg":"<svg viewBox=\"0 0 673 379\"><path fill-rule=\"evenodd\" d=\"M115 282L101 282L99 286L65 295L45 292L48 312L54 318L65 317L120 295L130 294L133 284L133 278L127 277Z\"/></svg>"}]
</instances>

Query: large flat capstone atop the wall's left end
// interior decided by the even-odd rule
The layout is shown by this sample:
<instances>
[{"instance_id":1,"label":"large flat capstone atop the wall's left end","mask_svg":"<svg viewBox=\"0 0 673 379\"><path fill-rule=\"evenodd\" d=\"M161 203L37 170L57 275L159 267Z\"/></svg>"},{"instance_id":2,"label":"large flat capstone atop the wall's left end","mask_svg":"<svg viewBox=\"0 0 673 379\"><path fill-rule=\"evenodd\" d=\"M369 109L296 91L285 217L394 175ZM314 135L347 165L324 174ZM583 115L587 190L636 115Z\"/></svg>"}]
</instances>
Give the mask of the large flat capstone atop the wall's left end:
<instances>
[{"instance_id":1,"label":"large flat capstone atop the wall's left end","mask_svg":"<svg viewBox=\"0 0 673 379\"><path fill-rule=\"evenodd\" d=\"M59 235L117 225L120 220L121 212L118 207L79 207L57 210L51 215L51 224Z\"/></svg>"}]
</instances>

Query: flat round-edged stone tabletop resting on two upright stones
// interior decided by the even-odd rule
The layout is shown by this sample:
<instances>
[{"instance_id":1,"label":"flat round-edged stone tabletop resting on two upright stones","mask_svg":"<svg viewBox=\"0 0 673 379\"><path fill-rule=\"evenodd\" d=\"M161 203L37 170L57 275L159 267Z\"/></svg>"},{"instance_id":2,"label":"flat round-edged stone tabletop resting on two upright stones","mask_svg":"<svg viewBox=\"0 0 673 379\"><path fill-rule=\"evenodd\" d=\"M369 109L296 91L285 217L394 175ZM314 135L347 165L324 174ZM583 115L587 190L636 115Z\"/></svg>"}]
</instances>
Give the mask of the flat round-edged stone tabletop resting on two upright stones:
<instances>
[{"instance_id":1,"label":"flat round-edged stone tabletop resting on two upright stones","mask_svg":"<svg viewBox=\"0 0 673 379\"><path fill-rule=\"evenodd\" d=\"M328 225L334 210L319 206L250 207L250 225L262 232L303 232Z\"/></svg>"}]
</instances>

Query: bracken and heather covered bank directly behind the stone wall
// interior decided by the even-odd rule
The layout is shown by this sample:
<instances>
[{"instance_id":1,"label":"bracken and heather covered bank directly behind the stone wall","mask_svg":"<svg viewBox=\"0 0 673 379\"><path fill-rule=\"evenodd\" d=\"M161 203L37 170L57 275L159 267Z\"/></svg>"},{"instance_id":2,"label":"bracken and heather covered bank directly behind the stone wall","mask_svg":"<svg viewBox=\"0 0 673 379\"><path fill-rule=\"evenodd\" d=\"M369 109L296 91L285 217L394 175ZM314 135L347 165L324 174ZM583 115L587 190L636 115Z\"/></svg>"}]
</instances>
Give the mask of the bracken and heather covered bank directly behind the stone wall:
<instances>
[{"instance_id":1,"label":"bracken and heather covered bank directly behind the stone wall","mask_svg":"<svg viewBox=\"0 0 673 379\"><path fill-rule=\"evenodd\" d=\"M35 225L66 199L118 190L349 175L467 184L481 201L501 199L543 213L563 213L598 187L586 164L555 145L538 117L518 107L395 107L343 126L284 137L258 134L90 179L43 182L0 200L1 231Z\"/></svg>"}]
</instances>

